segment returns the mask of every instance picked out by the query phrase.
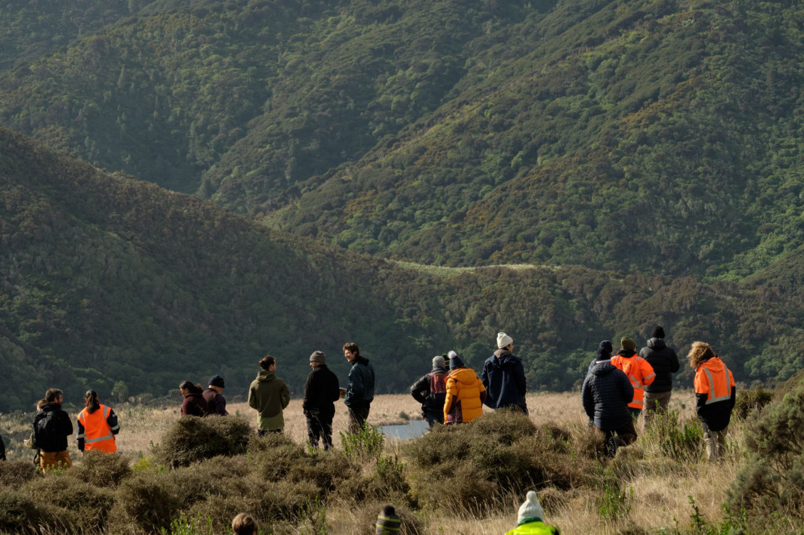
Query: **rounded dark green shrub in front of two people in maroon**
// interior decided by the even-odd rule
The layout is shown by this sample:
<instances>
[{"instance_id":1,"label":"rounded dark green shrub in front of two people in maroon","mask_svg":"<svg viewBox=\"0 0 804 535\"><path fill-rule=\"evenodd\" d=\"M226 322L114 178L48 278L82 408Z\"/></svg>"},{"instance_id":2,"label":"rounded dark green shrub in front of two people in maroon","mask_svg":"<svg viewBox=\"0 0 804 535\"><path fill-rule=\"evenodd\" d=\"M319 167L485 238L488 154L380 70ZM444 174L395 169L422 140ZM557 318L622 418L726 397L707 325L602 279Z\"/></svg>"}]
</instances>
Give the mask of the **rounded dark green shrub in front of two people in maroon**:
<instances>
[{"instance_id":1,"label":"rounded dark green shrub in front of two people in maroon","mask_svg":"<svg viewBox=\"0 0 804 535\"><path fill-rule=\"evenodd\" d=\"M175 468L218 455L239 455L245 453L253 434L248 420L237 416L183 416L154 447L154 459Z\"/></svg>"}]
</instances>

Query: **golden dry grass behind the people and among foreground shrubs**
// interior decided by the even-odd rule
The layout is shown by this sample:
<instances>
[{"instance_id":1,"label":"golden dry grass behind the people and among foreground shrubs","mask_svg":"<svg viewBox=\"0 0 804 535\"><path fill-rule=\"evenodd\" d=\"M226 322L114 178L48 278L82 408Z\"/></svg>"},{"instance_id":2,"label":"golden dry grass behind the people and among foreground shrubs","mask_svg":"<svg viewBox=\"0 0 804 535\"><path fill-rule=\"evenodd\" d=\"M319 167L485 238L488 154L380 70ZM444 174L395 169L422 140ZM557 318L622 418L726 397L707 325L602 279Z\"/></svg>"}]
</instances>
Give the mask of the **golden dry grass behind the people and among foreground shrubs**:
<instances>
[{"instance_id":1,"label":"golden dry grass behind the people and among foreground shrubs","mask_svg":"<svg viewBox=\"0 0 804 535\"><path fill-rule=\"evenodd\" d=\"M527 396L531 420L537 425L557 423L572 429L585 427L586 415L580 406L580 394L572 393L534 393ZM694 397L689 390L675 391L671 398L671 409L679 410L681 419L694 415ZM151 444L160 441L162 435L179 417L178 400L175 406L153 408L145 406L115 406L121 422L118 449L134 459L150 455ZM256 427L256 413L247 403L229 403L232 414L244 415L252 419ZM486 409L487 410L487 409ZM71 413L72 415L72 413ZM75 415L72 415L75 416ZM408 394L379 395L371 406L369 423L388 425L404 423L407 418L419 419L420 406ZM30 415L0 415L0 430L4 436L11 435L8 447L10 458L27 458L31 450L23 450L18 437L25 435L33 419ZM347 429L347 410L343 403L336 404L334 418L334 443L340 447L339 431ZM641 423L638 426L641 430ZM301 400L293 399L285 410L285 433L296 443L306 440L306 423L301 412ZM641 449L646 461L644 467L635 470L633 476L620 476L621 488L628 495L630 512L616 521L601 521L597 510L599 491L594 488L580 488L564 493L563 500L548 512L548 522L556 525L562 533L621 533L626 529L644 529L654 532L658 529L675 531L690 526L692 508L688 496L692 496L700 514L708 521L719 521L723 516L722 504L728 488L740 464L745 462L741 454L741 424L732 424L729 440L732 443L732 457L722 464L704 462L703 447L699 459L691 459L686 464L658 459L655 444L644 435L631 448ZM386 440L387 451L401 455L402 441ZM71 440L71 453L76 464L80 455L76 451L75 440ZM631 491L633 489L633 492ZM516 513L523 496L510 496L500 503L498 511L484 518L455 516L441 511L423 511L420 517L426 533L465 533L466 535L490 535L505 533L516 525ZM354 533L355 523L364 518L351 510L348 504L330 503L327 508L328 533ZM362 526L364 527L364 526Z\"/></svg>"}]
</instances>

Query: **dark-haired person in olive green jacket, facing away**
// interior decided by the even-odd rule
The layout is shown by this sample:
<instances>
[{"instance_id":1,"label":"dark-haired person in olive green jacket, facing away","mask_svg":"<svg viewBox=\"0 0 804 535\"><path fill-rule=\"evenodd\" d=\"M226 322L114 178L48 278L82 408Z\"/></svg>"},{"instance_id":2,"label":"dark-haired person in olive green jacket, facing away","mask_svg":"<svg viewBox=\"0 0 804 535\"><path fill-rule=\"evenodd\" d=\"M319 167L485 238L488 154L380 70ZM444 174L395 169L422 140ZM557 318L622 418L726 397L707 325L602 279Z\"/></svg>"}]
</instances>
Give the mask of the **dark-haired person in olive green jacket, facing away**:
<instances>
[{"instance_id":1,"label":"dark-haired person in olive green jacket, facing away","mask_svg":"<svg viewBox=\"0 0 804 535\"><path fill-rule=\"evenodd\" d=\"M266 355L260 360L260 373L248 389L248 406L257 413L257 435L281 433L285 429L282 410L290 402L285 382L276 376L277 359Z\"/></svg>"}]
</instances>

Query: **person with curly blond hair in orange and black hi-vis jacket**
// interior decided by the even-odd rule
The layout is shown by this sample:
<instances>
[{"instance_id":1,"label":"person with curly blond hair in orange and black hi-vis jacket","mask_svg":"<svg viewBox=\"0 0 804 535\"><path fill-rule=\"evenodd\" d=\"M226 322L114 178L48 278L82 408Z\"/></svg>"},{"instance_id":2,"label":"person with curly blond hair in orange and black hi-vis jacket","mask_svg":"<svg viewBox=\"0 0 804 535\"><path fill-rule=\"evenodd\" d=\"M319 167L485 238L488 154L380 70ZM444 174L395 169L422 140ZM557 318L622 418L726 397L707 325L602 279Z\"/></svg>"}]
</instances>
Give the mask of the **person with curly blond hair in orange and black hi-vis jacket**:
<instances>
[{"instance_id":1,"label":"person with curly blond hair in orange and black hi-vis jacket","mask_svg":"<svg viewBox=\"0 0 804 535\"><path fill-rule=\"evenodd\" d=\"M687 357L695 370L695 412L704 427L708 459L723 459L726 431L736 401L734 376L705 342L692 342Z\"/></svg>"}]
</instances>

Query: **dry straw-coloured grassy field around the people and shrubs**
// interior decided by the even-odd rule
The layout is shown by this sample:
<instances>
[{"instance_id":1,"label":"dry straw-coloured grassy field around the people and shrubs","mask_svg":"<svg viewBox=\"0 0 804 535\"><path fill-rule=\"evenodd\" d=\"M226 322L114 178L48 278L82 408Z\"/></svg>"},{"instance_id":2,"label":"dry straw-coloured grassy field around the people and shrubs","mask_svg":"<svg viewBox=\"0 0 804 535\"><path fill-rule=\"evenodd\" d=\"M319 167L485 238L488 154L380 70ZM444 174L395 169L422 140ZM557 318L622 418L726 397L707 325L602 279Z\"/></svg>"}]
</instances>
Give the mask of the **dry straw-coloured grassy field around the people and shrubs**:
<instances>
[{"instance_id":1,"label":"dry straw-coloured grassy field around the people and shrubs","mask_svg":"<svg viewBox=\"0 0 804 535\"><path fill-rule=\"evenodd\" d=\"M568 443L589 442L590 434L580 407L580 394L530 394L527 402L531 410L530 420L536 427L560 426L568 434ZM679 422L693 421L692 406L691 391L674 393L671 410L678 411ZM179 417L178 402L170 407L124 404L114 408L121 422L119 451L134 464L142 464L143 459L150 460L154 445L162 442ZM228 410L232 415L244 416L252 426L256 425L255 413L246 403L229 403ZM7 448L9 459L31 458L32 451L20 447L20 442L29 432L32 416L15 414L0 417L0 431L11 438ZM419 406L409 395L380 395L371 406L369 423L374 426L391 425L418 418ZM347 411L340 405L334 419L336 448L343 448L339 432L346 431L346 428ZM306 440L301 400L294 399L285 410L285 434L293 443L302 444ZM562 533L687 533L691 526L716 524L723 518L726 489L746 460L742 423L732 424L729 438L728 459L720 464L708 464L704 462L702 442L693 451L680 458L676 455L674 459L660 451L663 447L661 439L654 434L641 432L638 442L621 451L623 455L618 455L608 466L604 467L601 463L605 461L601 460L588 463L589 471L607 474L608 485L611 486L585 484L578 488L560 491L548 488L543 491L548 522L559 527ZM407 469L406 474L412 479L415 478L416 469L410 462L411 453L406 445L416 440L424 439L386 438L383 445L383 455L400 459ZM74 439L70 447L76 466L80 466L82 459L80 452L75 449ZM531 455L544 454L554 458L552 451L540 452L535 449L531 448ZM576 455L580 454L573 449L572 458ZM467 462L470 460L467 459ZM615 487L616 490L613 490ZM449 489L446 492L449 493ZM456 494L460 492L466 492L466 489L456 490ZM482 512L422 506L416 510L416 519L420 533L505 533L515 526L516 512L522 500L522 493L506 493L503 488L503 492L492 502L493 506L486 507ZM356 506L353 500L343 499L343 496L330 498L326 507L326 533L365 531L371 527L366 525L367 522L371 523L371 518L367 518L365 509ZM282 533L311 532L304 526L288 532L285 526ZM692 529L689 533L706 532Z\"/></svg>"}]
</instances>

